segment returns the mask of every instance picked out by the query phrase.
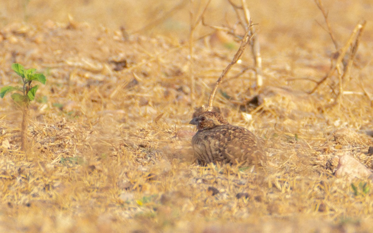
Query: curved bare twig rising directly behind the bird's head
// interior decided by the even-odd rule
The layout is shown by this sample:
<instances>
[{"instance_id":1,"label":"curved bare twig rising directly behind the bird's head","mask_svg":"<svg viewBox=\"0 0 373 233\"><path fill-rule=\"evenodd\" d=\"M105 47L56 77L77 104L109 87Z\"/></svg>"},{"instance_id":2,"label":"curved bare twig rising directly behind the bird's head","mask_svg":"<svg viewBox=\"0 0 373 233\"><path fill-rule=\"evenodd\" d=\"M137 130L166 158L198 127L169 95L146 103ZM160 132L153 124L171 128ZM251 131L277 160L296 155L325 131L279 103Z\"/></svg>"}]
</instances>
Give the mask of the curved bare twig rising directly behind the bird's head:
<instances>
[{"instance_id":1,"label":"curved bare twig rising directly behind the bird's head","mask_svg":"<svg viewBox=\"0 0 373 233\"><path fill-rule=\"evenodd\" d=\"M213 88L213 91L211 92L211 95L210 95L210 99L209 99L209 107L207 108L207 111L211 111L212 110L212 103L213 103L213 100L214 100L214 96L215 96L215 93L216 93L216 90L217 90L217 87L219 86L219 84L223 81L223 79L225 78L226 74L229 72L229 70L232 68L232 66L238 61L238 59L242 56L242 53L244 52L245 48L247 47L247 45L249 44L250 40L251 40L252 36L250 36L250 28L247 29L245 35L244 35L244 38L242 38L242 41L241 41L241 45L239 46L238 48L238 51L237 53L235 54L235 56L233 57L232 59L232 62L228 64L228 66L223 70L222 74L220 75L219 79L217 79L216 83L215 83L215 86Z\"/></svg>"}]
</instances>

